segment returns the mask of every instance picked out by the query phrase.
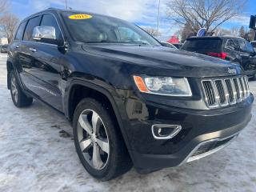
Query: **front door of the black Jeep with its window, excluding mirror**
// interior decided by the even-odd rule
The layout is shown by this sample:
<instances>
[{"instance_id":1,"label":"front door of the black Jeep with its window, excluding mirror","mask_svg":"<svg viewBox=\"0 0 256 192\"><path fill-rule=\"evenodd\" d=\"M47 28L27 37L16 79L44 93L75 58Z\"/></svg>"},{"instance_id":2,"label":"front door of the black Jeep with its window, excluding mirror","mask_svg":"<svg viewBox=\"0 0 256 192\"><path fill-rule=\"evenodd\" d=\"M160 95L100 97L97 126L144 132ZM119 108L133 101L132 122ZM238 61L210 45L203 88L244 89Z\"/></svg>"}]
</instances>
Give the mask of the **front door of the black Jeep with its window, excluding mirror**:
<instances>
[{"instance_id":1,"label":"front door of the black Jeep with its window, excluding mirror","mask_svg":"<svg viewBox=\"0 0 256 192\"><path fill-rule=\"evenodd\" d=\"M42 21L38 26L54 26L56 38L63 38L53 14L42 15ZM26 54L21 54L22 56L22 68L26 71L23 81L27 89L36 94L43 102L63 111L61 61L65 59L65 55L58 50L57 45L36 42L32 38L30 42L26 42Z\"/></svg>"}]
</instances>

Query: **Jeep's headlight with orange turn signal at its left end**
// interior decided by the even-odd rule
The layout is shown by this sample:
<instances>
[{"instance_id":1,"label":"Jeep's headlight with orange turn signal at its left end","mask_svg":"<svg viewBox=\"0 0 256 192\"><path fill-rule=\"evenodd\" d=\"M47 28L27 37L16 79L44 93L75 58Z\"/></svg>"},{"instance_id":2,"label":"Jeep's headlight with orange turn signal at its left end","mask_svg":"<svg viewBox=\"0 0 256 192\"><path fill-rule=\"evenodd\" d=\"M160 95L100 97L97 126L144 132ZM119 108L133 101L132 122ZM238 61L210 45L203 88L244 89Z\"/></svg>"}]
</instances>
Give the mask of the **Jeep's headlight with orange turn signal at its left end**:
<instances>
[{"instance_id":1,"label":"Jeep's headlight with orange turn signal at its left end","mask_svg":"<svg viewBox=\"0 0 256 192\"><path fill-rule=\"evenodd\" d=\"M169 96L192 96L187 78L134 76L134 82L143 93Z\"/></svg>"}]
</instances>

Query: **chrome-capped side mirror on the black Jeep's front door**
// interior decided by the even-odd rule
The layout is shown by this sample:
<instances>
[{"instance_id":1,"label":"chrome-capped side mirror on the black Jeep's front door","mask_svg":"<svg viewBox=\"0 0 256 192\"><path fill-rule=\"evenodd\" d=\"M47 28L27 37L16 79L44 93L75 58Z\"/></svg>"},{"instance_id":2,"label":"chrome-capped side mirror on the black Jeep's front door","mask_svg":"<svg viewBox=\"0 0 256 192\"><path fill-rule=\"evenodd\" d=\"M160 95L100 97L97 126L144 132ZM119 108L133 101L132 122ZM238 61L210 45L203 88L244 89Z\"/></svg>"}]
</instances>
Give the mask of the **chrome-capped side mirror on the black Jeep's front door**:
<instances>
[{"instance_id":1,"label":"chrome-capped side mirror on the black Jeep's front door","mask_svg":"<svg viewBox=\"0 0 256 192\"><path fill-rule=\"evenodd\" d=\"M53 26L35 26L32 38L38 42L46 42L63 46L64 41L56 39L55 28Z\"/></svg>"}]
</instances>

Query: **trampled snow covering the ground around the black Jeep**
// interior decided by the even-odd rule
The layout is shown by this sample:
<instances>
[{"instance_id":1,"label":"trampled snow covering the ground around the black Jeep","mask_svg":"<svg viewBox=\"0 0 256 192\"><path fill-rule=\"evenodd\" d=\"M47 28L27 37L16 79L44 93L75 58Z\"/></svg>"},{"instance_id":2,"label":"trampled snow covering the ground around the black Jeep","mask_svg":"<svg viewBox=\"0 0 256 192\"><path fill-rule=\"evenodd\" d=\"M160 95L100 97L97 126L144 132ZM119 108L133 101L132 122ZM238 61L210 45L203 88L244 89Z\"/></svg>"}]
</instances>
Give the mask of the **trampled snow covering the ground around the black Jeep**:
<instances>
[{"instance_id":1,"label":"trampled snow covering the ground around the black Jeep","mask_svg":"<svg viewBox=\"0 0 256 192\"><path fill-rule=\"evenodd\" d=\"M250 82L256 94L256 82ZM256 191L256 106L249 126L225 149L196 162L98 182L79 162L64 117L34 102L14 107L0 55L0 191Z\"/></svg>"}]
</instances>

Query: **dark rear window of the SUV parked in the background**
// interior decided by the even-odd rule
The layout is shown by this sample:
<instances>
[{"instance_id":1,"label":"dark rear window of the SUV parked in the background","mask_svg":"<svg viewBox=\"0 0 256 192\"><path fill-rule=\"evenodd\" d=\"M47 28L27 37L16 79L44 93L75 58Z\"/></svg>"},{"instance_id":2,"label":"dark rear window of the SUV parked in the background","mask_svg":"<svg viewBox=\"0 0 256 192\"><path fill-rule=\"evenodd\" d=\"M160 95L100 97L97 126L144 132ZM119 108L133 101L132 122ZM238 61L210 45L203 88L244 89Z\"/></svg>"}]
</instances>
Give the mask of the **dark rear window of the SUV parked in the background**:
<instances>
[{"instance_id":1,"label":"dark rear window of the SUV parked in the background","mask_svg":"<svg viewBox=\"0 0 256 192\"><path fill-rule=\"evenodd\" d=\"M182 50L189 51L213 51L218 52L222 47L221 39L213 39L213 38L192 38L186 40L184 45L182 46Z\"/></svg>"}]
</instances>

